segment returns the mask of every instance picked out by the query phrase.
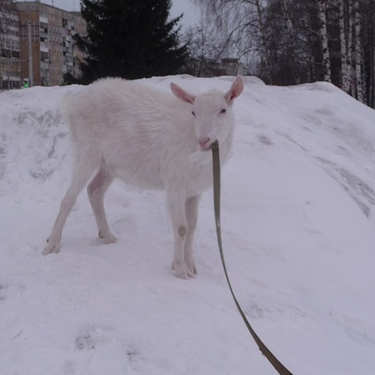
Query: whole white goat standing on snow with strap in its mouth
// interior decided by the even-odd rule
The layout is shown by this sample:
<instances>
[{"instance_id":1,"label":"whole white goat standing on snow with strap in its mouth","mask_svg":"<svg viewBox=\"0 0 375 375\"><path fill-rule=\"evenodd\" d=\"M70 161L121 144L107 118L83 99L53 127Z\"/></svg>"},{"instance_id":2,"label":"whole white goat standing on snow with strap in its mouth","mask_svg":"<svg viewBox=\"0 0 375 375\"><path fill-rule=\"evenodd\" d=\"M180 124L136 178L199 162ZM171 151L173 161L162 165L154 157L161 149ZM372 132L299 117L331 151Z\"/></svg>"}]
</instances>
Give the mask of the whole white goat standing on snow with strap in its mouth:
<instances>
[{"instance_id":1,"label":"whole white goat standing on snow with strap in its mouth","mask_svg":"<svg viewBox=\"0 0 375 375\"><path fill-rule=\"evenodd\" d=\"M66 99L75 146L72 182L43 254L60 250L65 221L90 178L87 192L99 237L113 243L104 194L115 177L145 189L165 189L174 233L172 269L194 277L192 242L203 190L212 184L210 146L219 141L222 164L233 141L232 104L243 90L237 77L227 93L194 96L171 84L174 95L120 78L99 80Z\"/></svg>"}]
</instances>

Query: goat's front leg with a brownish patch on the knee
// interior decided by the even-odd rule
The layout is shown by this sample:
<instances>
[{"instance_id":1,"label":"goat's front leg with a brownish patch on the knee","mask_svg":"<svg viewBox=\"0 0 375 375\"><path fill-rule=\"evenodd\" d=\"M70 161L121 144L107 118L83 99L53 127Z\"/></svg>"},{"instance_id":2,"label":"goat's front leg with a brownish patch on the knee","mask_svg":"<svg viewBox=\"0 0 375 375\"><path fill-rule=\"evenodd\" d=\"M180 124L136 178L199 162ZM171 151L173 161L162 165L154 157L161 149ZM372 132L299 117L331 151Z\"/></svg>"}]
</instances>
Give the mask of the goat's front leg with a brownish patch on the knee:
<instances>
[{"instance_id":1,"label":"goat's front leg with a brownish patch on the knee","mask_svg":"<svg viewBox=\"0 0 375 375\"><path fill-rule=\"evenodd\" d=\"M186 193L180 186L173 186L167 189L166 195L174 234L172 270L178 278L193 278L194 272L187 266L184 256L184 246L187 236L187 221L185 214Z\"/></svg>"}]
</instances>

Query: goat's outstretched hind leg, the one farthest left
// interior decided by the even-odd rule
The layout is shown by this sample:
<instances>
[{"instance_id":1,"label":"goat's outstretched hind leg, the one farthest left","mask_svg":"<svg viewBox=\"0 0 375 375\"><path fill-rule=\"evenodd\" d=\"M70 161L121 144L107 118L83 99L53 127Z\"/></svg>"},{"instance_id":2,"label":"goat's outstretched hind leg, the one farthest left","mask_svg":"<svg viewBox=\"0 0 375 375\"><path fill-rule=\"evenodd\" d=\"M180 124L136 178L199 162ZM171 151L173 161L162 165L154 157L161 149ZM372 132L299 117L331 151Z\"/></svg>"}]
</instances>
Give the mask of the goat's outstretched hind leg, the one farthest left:
<instances>
[{"instance_id":1,"label":"goat's outstretched hind leg, the one farthest left","mask_svg":"<svg viewBox=\"0 0 375 375\"><path fill-rule=\"evenodd\" d=\"M95 166L86 163L86 161L86 159L81 160L81 162L74 167L71 185L61 202L60 212L57 215L51 236L48 237L47 245L43 250L43 255L58 253L60 251L61 236L66 219L75 204L78 194L85 187L87 181L89 181L95 171Z\"/></svg>"}]
</instances>

